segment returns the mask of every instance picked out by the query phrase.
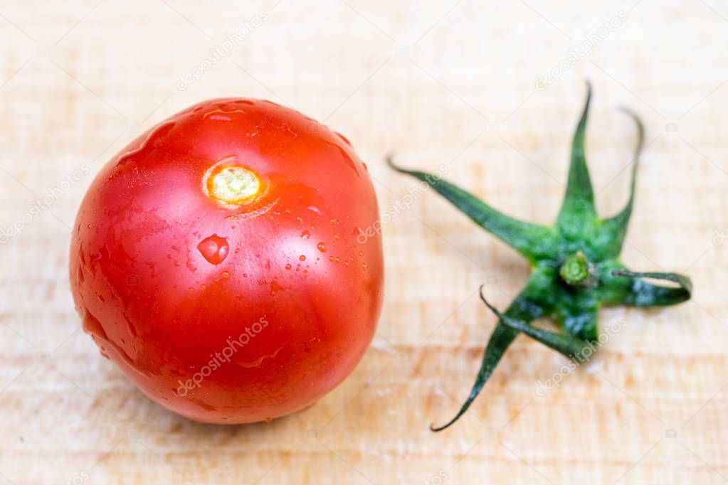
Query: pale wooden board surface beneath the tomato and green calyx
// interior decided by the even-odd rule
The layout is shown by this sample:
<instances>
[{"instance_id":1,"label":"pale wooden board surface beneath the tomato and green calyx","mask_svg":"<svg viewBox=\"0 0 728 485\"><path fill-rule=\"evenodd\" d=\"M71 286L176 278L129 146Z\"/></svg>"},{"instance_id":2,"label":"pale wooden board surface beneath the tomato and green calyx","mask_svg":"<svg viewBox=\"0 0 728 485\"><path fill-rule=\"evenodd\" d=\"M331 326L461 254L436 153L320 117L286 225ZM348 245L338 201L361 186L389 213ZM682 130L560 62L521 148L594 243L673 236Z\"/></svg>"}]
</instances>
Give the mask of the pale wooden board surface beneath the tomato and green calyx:
<instances>
[{"instance_id":1,"label":"pale wooden board surface beneath the tomato and green calyx","mask_svg":"<svg viewBox=\"0 0 728 485\"><path fill-rule=\"evenodd\" d=\"M0 481L727 481L728 3L276 1L0 1L0 228L22 232L0 238ZM179 74L246 20L258 25L244 41L181 86ZM562 60L558 82L536 89ZM595 88L587 150L605 214L626 199L635 141L615 108L646 123L625 261L687 272L696 290L676 308L604 310L602 325L628 324L545 396L537 382L565 361L519 337L467 416L427 429L467 396L493 329L478 286L502 308L528 273L433 193L384 228L386 299L371 349L297 415L189 422L135 390L79 329L67 277L79 201L139 130L186 105L264 97L325 121L368 162L382 212L414 185L384 166L393 151L409 167L446 164L450 180L499 209L550 223L584 79ZM63 183L82 167L88 175ZM33 212L49 188L61 191Z\"/></svg>"}]
</instances>

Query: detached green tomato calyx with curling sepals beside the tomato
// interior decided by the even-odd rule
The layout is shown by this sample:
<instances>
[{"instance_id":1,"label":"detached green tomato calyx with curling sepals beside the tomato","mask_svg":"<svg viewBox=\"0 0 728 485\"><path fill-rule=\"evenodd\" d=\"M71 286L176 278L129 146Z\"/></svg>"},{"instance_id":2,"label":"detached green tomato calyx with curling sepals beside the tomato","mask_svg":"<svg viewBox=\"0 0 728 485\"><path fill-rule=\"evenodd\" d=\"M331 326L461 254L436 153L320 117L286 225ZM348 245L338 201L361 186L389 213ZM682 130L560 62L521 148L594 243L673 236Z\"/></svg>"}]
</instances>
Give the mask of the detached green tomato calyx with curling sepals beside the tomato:
<instances>
[{"instance_id":1,"label":"detached green tomato calyx with curling sepals beside the tomato","mask_svg":"<svg viewBox=\"0 0 728 485\"><path fill-rule=\"evenodd\" d=\"M445 425L430 427L434 431L448 428L467 411L518 334L526 334L573 360L574 356L586 355L587 346L600 341L597 313L601 306L656 307L690 299L692 283L687 276L634 272L622 264L620 252L632 215L644 127L638 116L624 110L637 127L630 196L617 215L601 218L596 212L585 156L590 100L591 86L587 84L586 103L571 145L566 195L555 223L550 226L509 217L441 177L403 169L391 158L388 160L390 167L427 183L481 228L520 252L532 268L526 286L503 313L488 303L481 291L483 302L494 311L498 322L466 401ZM662 286L644 278L670 281L670 284ZM539 318L552 318L558 332L531 325Z\"/></svg>"}]
</instances>

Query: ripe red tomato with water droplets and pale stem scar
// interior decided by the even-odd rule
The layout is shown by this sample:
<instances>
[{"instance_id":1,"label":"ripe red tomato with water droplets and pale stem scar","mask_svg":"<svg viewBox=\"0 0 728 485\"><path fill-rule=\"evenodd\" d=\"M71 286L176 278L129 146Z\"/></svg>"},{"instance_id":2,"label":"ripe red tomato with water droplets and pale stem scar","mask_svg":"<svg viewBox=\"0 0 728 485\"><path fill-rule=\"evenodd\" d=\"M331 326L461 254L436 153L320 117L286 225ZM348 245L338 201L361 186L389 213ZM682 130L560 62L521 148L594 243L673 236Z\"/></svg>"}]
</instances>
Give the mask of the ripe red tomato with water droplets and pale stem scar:
<instances>
[{"instance_id":1,"label":"ripe red tomato with water droplets and pale stem scar","mask_svg":"<svg viewBox=\"0 0 728 485\"><path fill-rule=\"evenodd\" d=\"M296 412L352 372L381 310L378 208L348 140L210 100L100 170L71 241L84 329L149 398L202 422Z\"/></svg>"}]
</instances>

